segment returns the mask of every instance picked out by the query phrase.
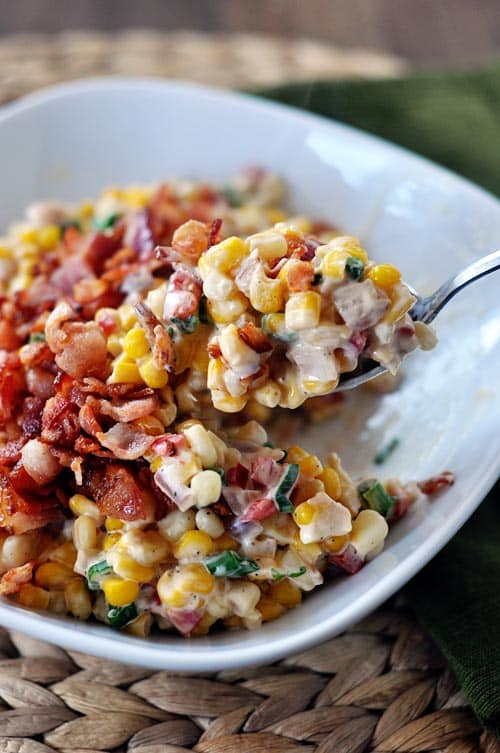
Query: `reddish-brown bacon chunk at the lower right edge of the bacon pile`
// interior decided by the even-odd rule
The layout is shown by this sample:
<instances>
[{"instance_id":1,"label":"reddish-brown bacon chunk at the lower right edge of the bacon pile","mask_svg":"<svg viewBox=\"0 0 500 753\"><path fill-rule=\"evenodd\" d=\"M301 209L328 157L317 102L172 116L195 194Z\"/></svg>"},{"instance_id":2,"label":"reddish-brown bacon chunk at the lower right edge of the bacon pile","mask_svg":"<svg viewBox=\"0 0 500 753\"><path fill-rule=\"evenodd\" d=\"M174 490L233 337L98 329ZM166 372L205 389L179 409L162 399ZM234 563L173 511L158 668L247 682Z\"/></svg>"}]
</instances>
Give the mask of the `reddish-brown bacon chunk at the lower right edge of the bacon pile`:
<instances>
[{"instance_id":1,"label":"reddish-brown bacon chunk at the lower right edge of the bacon pile","mask_svg":"<svg viewBox=\"0 0 500 753\"><path fill-rule=\"evenodd\" d=\"M144 520L148 506L131 470L119 463L91 463L83 471L82 488L104 515L120 520Z\"/></svg>"}]
</instances>

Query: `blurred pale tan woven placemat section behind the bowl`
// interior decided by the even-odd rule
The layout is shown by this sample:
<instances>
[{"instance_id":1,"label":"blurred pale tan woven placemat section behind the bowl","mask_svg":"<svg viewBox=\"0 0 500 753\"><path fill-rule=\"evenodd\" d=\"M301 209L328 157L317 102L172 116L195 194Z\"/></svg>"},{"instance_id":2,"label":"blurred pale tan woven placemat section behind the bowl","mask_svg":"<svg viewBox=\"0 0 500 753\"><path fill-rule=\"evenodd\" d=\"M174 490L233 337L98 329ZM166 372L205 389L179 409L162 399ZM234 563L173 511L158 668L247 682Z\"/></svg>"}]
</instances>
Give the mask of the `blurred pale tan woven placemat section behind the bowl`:
<instances>
[{"instance_id":1,"label":"blurred pale tan woven placemat section behind the bowl","mask_svg":"<svg viewBox=\"0 0 500 753\"><path fill-rule=\"evenodd\" d=\"M0 102L95 75L167 76L251 88L317 78L394 76L395 56L310 39L124 30L0 37Z\"/></svg>"}]
</instances>

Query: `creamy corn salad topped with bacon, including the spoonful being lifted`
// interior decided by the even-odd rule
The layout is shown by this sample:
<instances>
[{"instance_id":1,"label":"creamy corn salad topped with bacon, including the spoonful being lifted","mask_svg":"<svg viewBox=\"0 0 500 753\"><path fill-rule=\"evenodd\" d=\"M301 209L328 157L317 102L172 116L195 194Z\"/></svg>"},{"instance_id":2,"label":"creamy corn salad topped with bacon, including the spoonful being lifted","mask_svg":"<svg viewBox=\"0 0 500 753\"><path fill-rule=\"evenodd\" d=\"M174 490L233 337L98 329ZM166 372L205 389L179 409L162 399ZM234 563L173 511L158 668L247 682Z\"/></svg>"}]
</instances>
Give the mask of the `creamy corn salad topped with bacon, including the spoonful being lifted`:
<instances>
[{"instance_id":1,"label":"creamy corn salad topped with bacon, including the spoonful being lifted","mask_svg":"<svg viewBox=\"0 0 500 753\"><path fill-rule=\"evenodd\" d=\"M283 197L256 168L113 188L0 239L0 594L198 635L275 619L381 551L419 486L355 484L334 453L224 420L324 413L361 354L395 370L434 344L395 267Z\"/></svg>"}]
</instances>

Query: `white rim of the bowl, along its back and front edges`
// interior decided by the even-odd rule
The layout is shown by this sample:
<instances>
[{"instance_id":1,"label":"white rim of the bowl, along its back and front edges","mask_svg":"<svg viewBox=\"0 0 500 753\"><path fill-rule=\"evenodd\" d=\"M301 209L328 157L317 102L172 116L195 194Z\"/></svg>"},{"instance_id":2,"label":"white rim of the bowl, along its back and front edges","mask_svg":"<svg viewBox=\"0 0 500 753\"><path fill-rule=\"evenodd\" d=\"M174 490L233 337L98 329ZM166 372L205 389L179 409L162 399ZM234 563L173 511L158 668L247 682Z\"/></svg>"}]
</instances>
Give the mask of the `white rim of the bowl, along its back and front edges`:
<instances>
[{"instance_id":1,"label":"white rim of the bowl, along its back and front edges","mask_svg":"<svg viewBox=\"0 0 500 753\"><path fill-rule=\"evenodd\" d=\"M154 90L160 95L162 92L182 92L192 95L202 95L214 102L226 105L236 103L249 107L253 111L274 113L282 119L292 119L305 126L320 125L322 127L341 130L345 134L362 138L375 148L383 148L402 157L410 164L431 170L434 174L448 176L460 188L472 191L483 201L493 202L500 212L500 201L489 191L477 186L466 178L454 173L431 160L426 159L404 147L365 133L360 129L345 125L342 122L309 113L304 110L276 103L249 93L226 91L201 84L186 83L175 79L161 79L155 77L122 77L100 76L80 79L71 82L44 87L20 99L7 103L0 108L0 129L2 125L26 113L36 113L39 108L78 94L92 94L105 90ZM0 131L1 139L1 131ZM245 646L245 632L241 632L242 640L238 645L217 646L205 643L192 644L193 651L178 653L175 646L167 647L159 642L148 639L138 639L124 634L116 634L104 626L75 625L59 617L47 616L34 610L27 610L12 605L0 599L0 621L8 629L20 630L34 637L41 637L51 643L75 651L89 651L103 658L123 661L127 652L129 663L140 664L155 669L169 669L175 671L218 671L230 667L243 667L254 664L268 664L284 656L303 651L322 641L328 640L347 627L373 611L383 601L393 595L410 580L440 549L452 538L465 521L479 506L487 492L492 488L500 473L500 456L496 464L485 473L479 484L475 498L468 497L457 505L454 514L450 515L443 528L438 528L429 535L426 542L416 550L411 551L398 567L386 573L377 587L367 591L358 602L351 603L341 612L333 613L330 618L315 624L312 623L305 630L295 634L285 633L278 638L270 639L259 649L255 646ZM443 530L445 533L443 533ZM42 617L42 620L40 618ZM50 635L41 636L41 632L50 629Z\"/></svg>"}]
</instances>

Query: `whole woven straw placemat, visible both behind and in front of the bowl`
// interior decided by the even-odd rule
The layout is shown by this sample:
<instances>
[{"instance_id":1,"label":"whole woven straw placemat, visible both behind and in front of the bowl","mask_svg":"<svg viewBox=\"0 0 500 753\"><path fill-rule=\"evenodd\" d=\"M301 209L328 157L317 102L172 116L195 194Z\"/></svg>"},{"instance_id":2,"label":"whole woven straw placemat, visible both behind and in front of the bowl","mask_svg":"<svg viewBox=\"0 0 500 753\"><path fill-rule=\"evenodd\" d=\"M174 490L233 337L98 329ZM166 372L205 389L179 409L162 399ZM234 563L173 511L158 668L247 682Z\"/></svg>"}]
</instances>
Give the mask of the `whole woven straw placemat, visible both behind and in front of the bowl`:
<instances>
[{"instance_id":1,"label":"whole woven straw placemat, visible both behind and in front of the bowl","mask_svg":"<svg viewBox=\"0 0 500 753\"><path fill-rule=\"evenodd\" d=\"M29 51L29 53L27 53ZM0 102L82 76L231 87L398 75L404 61L311 40L191 32L0 38ZM0 753L500 753L412 616L386 607L268 667L179 677L0 629Z\"/></svg>"}]
</instances>

